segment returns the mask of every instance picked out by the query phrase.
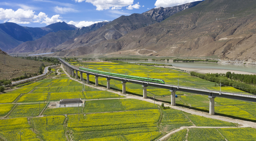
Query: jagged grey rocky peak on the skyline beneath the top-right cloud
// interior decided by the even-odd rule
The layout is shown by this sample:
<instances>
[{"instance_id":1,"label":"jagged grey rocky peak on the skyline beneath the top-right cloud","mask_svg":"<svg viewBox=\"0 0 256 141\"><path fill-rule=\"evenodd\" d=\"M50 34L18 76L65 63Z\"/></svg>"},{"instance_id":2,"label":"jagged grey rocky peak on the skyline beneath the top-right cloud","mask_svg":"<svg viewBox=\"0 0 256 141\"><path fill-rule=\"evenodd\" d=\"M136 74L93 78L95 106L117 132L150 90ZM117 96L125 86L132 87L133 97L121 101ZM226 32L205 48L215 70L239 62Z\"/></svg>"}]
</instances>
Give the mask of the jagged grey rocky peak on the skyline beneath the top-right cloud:
<instances>
[{"instance_id":1,"label":"jagged grey rocky peak on the skyline beneath the top-right cloud","mask_svg":"<svg viewBox=\"0 0 256 141\"><path fill-rule=\"evenodd\" d=\"M202 2L202 1L190 2L190 3L186 3L186 4L174 6L174 7L153 8L153 9L150 9L149 11L144 12L142 14L146 15L146 16L149 16L150 18L155 19L158 22L161 22L161 21L165 20L166 18L170 17L171 15L173 15L175 13L178 13L182 10L185 10L185 9L196 6L200 2Z\"/></svg>"}]
</instances>

